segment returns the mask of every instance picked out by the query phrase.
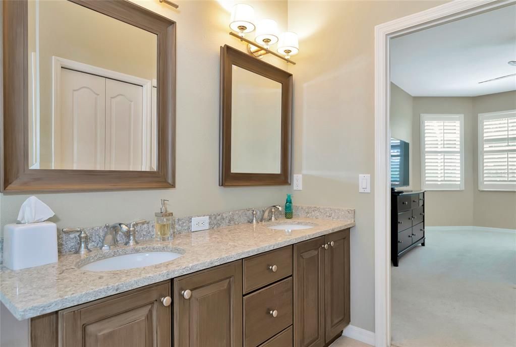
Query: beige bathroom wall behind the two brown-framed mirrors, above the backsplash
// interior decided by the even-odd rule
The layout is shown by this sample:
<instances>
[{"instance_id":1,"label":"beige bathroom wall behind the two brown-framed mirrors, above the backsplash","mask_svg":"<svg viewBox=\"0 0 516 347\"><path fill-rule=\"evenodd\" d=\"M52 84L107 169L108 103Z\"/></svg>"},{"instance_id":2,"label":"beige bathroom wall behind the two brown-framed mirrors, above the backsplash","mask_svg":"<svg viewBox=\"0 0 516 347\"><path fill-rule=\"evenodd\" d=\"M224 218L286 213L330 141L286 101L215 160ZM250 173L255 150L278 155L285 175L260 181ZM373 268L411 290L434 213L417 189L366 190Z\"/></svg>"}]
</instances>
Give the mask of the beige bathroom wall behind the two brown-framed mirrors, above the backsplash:
<instances>
[{"instance_id":1,"label":"beige bathroom wall behind the two brown-framed mirrors, above the backsplash","mask_svg":"<svg viewBox=\"0 0 516 347\"><path fill-rule=\"evenodd\" d=\"M156 1L139 1L176 21L177 106L175 189L36 194L56 212L58 227L94 226L153 219L159 199L170 200L175 216L213 213L251 206L282 204L290 186L223 188L218 186L219 56L220 46L246 46L228 35L230 9L235 2L183 1L179 10ZM287 27L287 2L253 2L257 18L272 16ZM275 57L265 61L282 69ZM3 194L0 228L15 222L28 194Z\"/></svg>"}]
</instances>

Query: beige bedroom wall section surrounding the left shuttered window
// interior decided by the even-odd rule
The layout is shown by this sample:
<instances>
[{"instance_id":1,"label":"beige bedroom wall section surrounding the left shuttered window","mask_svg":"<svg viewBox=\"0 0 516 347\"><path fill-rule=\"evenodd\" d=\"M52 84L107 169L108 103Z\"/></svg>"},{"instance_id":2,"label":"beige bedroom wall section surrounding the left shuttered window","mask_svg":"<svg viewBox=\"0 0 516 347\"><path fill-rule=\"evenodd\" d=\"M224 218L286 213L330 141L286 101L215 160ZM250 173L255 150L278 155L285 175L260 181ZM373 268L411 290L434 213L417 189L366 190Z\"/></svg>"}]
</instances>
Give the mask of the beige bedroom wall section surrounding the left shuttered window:
<instances>
[{"instance_id":1,"label":"beige bedroom wall section surrounding the left shuttered window","mask_svg":"<svg viewBox=\"0 0 516 347\"><path fill-rule=\"evenodd\" d=\"M425 224L474 225L473 224L473 136L476 117L471 97L414 97L412 122L412 172L413 189L421 189L421 113L464 114L464 190L427 191Z\"/></svg>"}]
</instances>

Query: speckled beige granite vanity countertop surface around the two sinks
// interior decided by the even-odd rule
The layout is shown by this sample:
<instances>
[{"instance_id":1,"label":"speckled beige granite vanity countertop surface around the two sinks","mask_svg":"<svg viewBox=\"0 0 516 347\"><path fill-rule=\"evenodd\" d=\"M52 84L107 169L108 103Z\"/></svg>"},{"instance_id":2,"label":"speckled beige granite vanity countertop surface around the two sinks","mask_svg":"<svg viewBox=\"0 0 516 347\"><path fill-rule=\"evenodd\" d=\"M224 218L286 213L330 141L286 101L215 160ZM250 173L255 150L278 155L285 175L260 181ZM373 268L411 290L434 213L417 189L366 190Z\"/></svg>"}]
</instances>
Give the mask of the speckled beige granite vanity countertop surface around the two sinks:
<instances>
[{"instance_id":1,"label":"speckled beige granite vanity countertop surface around the two sinks","mask_svg":"<svg viewBox=\"0 0 516 347\"><path fill-rule=\"evenodd\" d=\"M309 229L270 229L273 224L309 222ZM266 224L238 224L176 235L172 241L141 241L111 251L64 254L57 263L12 271L0 268L0 301L19 319L27 319L109 295L270 251L354 226L352 220L295 218ZM144 268L91 272L77 266L113 255L173 251L180 258Z\"/></svg>"}]
</instances>

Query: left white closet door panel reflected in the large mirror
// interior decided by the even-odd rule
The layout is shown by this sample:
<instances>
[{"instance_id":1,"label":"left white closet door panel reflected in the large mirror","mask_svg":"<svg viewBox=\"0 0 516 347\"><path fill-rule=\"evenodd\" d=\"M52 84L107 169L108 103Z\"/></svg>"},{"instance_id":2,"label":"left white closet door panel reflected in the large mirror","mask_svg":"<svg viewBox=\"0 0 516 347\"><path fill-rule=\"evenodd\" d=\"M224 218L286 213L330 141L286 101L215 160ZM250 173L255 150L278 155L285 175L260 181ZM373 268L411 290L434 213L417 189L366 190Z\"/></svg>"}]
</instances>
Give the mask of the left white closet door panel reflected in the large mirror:
<instances>
[{"instance_id":1,"label":"left white closet door panel reflected in the large mirror","mask_svg":"<svg viewBox=\"0 0 516 347\"><path fill-rule=\"evenodd\" d=\"M54 118L54 169L104 170L105 80L61 70L61 111Z\"/></svg>"}]
</instances>

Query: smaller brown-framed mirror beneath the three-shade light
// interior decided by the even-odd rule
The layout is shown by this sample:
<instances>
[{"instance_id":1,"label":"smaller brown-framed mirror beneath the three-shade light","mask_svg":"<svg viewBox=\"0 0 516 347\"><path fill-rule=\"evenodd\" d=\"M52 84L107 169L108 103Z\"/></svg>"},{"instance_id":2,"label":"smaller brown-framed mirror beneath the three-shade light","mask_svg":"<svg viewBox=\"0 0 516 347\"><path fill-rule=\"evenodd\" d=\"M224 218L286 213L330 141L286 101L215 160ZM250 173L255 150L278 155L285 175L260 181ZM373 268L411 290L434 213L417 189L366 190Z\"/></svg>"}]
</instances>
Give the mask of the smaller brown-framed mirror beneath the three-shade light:
<instances>
[{"instance_id":1,"label":"smaller brown-framed mirror beneath the three-shade light","mask_svg":"<svg viewBox=\"0 0 516 347\"><path fill-rule=\"evenodd\" d=\"M219 185L289 185L292 74L228 45L220 50Z\"/></svg>"}]
</instances>

